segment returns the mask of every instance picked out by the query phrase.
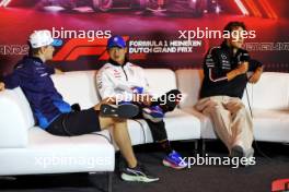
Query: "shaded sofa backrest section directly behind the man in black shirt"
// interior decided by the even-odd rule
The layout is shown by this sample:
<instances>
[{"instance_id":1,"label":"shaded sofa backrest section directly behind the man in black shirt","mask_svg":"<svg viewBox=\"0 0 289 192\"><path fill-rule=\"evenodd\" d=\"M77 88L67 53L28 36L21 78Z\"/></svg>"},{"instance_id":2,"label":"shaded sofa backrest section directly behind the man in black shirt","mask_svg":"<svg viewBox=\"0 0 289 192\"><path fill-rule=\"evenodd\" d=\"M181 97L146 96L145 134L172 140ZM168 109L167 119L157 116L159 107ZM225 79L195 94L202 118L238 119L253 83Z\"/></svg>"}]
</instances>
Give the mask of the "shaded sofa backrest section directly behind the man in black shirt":
<instances>
[{"instance_id":1,"label":"shaded sofa backrest section directly behind the man in black shirt","mask_svg":"<svg viewBox=\"0 0 289 192\"><path fill-rule=\"evenodd\" d=\"M194 107L199 99L200 86L204 79L203 70L176 70L175 74L177 87L185 96L181 101L180 107ZM246 92L244 93L242 100L245 106L248 106L248 103L252 103L252 86L250 84L247 84Z\"/></svg>"}]
</instances>

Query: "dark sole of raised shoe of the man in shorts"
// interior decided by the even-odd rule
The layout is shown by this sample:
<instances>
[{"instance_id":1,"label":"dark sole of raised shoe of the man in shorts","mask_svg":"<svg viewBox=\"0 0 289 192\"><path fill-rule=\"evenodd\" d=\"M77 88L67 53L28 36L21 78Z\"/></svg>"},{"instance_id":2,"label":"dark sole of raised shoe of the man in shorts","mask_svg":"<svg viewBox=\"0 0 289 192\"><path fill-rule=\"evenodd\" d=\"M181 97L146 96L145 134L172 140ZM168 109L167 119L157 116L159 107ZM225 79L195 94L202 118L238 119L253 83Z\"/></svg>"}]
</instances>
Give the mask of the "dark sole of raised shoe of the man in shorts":
<instances>
[{"instance_id":1,"label":"dark sole of raised shoe of the man in shorts","mask_svg":"<svg viewBox=\"0 0 289 192\"><path fill-rule=\"evenodd\" d=\"M137 116L139 108L136 105L113 106L104 104L101 106L101 115L116 118L132 118Z\"/></svg>"}]
</instances>

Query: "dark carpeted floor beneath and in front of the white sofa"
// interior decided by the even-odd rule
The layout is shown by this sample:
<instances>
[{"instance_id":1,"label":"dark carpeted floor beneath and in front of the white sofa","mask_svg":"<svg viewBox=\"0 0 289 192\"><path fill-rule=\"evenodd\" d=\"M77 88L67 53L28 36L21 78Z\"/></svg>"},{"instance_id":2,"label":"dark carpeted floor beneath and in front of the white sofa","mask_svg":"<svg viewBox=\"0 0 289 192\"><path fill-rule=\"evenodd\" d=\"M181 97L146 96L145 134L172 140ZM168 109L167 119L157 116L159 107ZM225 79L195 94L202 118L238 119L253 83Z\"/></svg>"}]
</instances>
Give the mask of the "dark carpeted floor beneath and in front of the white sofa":
<instances>
[{"instance_id":1,"label":"dark carpeted floor beneath and in front of the white sofa","mask_svg":"<svg viewBox=\"0 0 289 192\"><path fill-rule=\"evenodd\" d=\"M193 143L175 142L174 148L184 156L194 156ZM256 165L233 169L230 166L193 166L186 170L163 167L163 154L151 144L135 147L138 159L160 181L155 183L130 183L114 173L115 192L267 192L276 179L289 178L289 146L276 143L257 143ZM255 146L256 148L256 146ZM207 142L210 157L227 156L224 146L217 141ZM265 153L261 155L262 153ZM118 166L117 168L118 169ZM69 173L21 176L16 180L0 180L0 191L67 191L97 192L106 189L106 175Z\"/></svg>"}]
</instances>

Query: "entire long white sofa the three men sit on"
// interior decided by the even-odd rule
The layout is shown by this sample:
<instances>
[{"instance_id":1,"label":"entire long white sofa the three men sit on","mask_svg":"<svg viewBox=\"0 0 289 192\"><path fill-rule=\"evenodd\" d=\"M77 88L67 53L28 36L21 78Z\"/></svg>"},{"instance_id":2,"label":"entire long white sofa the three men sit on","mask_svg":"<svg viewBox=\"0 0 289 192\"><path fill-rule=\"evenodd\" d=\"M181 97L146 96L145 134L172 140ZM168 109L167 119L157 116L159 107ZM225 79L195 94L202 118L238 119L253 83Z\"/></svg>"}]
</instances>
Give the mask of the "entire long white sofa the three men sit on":
<instances>
[{"instance_id":1,"label":"entire long white sofa the three men sit on","mask_svg":"<svg viewBox=\"0 0 289 192\"><path fill-rule=\"evenodd\" d=\"M95 72L67 72L54 75L53 80L65 100L78 103L84 109L100 101ZM216 139L209 118L193 108L203 80L200 70L154 69L146 70L146 75L152 91L160 95L172 88L186 95L180 108L164 119L169 140ZM247 86L247 92L248 99L243 99L246 105L250 100L253 109L255 139L289 142L289 74L264 73L258 84ZM20 88L0 93L0 176L114 170L115 147L105 137L94 134L61 137L46 133L34 125L28 103ZM143 120L129 120L128 125L134 145L152 142ZM107 131L102 134L108 136ZM58 160L48 164L53 157ZM67 163L69 157L74 161ZM41 159L43 164L44 159L48 163L44 166ZM65 163L58 163L59 159Z\"/></svg>"}]
</instances>

